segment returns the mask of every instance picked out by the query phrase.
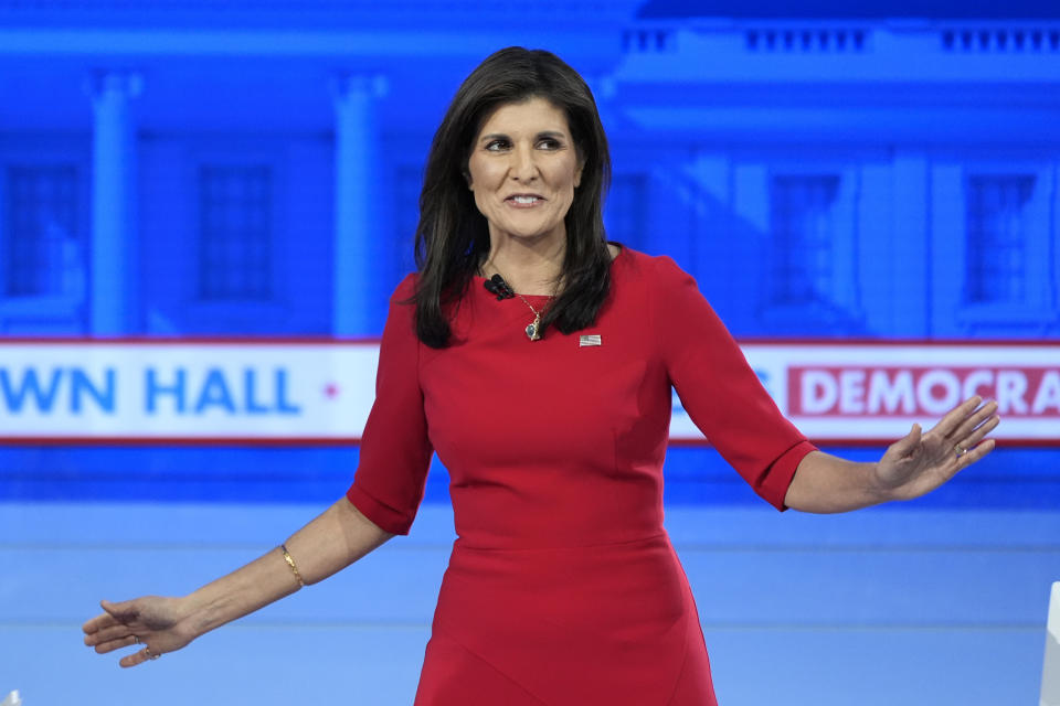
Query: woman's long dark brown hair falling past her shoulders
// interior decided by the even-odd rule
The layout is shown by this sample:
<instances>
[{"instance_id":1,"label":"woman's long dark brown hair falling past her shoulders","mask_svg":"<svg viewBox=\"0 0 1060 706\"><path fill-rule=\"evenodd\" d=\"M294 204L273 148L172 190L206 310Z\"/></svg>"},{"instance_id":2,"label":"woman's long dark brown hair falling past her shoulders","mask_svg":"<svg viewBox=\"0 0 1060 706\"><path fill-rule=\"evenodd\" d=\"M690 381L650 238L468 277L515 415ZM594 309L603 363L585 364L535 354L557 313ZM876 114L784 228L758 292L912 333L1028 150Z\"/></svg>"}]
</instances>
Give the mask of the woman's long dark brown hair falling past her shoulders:
<instances>
[{"instance_id":1,"label":"woman's long dark brown hair falling past her shoulders","mask_svg":"<svg viewBox=\"0 0 1060 706\"><path fill-rule=\"evenodd\" d=\"M449 317L489 252L486 217L467 188L471 146L484 121L501 105L545 98L566 114L571 139L583 160L581 184L566 213L563 285L542 320L563 333L595 321L611 287L611 254L604 235L603 194L611 180L607 137L589 86L562 60L542 50L510 46L491 54L464 81L442 120L427 157L416 226L414 301L416 334L445 347Z\"/></svg>"}]
</instances>

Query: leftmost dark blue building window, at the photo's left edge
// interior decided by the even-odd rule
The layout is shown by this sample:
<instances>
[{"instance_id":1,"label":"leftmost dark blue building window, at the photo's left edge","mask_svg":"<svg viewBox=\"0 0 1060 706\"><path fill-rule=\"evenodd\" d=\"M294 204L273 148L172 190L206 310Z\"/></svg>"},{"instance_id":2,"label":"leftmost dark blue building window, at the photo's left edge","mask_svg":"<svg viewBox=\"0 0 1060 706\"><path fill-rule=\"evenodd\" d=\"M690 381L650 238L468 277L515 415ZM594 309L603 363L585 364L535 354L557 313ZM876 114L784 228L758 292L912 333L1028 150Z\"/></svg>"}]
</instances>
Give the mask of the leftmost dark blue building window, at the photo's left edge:
<instances>
[{"instance_id":1,"label":"leftmost dark blue building window, at the photo's left edge","mask_svg":"<svg viewBox=\"0 0 1060 706\"><path fill-rule=\"evenodd\" d=\"M9 167L6 202L3 293L77 295L84 281L77 169Z\"/></svg>"}]
</instances>

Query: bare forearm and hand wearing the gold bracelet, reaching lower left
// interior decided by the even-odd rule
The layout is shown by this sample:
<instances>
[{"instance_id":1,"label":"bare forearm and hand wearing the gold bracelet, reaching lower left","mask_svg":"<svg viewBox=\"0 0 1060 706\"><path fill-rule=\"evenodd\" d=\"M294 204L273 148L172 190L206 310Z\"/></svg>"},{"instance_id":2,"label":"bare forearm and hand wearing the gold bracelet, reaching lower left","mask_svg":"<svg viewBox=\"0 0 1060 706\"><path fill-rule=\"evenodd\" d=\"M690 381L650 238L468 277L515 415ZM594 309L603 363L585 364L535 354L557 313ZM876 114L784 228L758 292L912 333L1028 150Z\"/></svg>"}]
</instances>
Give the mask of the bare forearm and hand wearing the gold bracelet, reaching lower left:
<instances>
[{"instance_id":1,"label":"bare forearm and hand wearing the gold bracelet, reaching lower left","mask_svg":"<svg viewBox=\"0 0 1060 706\"><path fill-rule=\"evenodd\" d=\"M301 580L315 584L346 568L393 535L380 530L346 498L287 539ZM187 645L199 635L242 618L300 588L279 548L181 598L146 596L103 601L104 613L87 621L85 644L113 652L142 644L118 662L136 666Z\"/></svg>"}]
</instances>

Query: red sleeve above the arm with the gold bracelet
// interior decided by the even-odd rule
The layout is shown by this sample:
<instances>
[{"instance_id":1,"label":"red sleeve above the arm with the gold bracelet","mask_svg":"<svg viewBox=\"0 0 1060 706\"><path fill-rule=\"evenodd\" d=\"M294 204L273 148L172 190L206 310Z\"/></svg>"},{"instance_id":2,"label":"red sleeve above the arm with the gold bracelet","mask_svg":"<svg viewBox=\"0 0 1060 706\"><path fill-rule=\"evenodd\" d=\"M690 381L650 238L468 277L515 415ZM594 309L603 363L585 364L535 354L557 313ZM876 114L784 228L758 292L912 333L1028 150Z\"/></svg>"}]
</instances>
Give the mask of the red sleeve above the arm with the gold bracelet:
<instances>
[{"instance_id":1,"label":"red sleeve above the arm with the gold bracelet","mask_svg":"<svg viewBox=\"0 0 1060 706\"><path fill-rule=\"evenodd\" d=\"M346 496L369 520L392 534L409 534L423 501L432 447L420 387L420 341L415 289L406 277L390 299L379 347L375 402L361 437L360 462Z\"/></svg>"}]
</instances>

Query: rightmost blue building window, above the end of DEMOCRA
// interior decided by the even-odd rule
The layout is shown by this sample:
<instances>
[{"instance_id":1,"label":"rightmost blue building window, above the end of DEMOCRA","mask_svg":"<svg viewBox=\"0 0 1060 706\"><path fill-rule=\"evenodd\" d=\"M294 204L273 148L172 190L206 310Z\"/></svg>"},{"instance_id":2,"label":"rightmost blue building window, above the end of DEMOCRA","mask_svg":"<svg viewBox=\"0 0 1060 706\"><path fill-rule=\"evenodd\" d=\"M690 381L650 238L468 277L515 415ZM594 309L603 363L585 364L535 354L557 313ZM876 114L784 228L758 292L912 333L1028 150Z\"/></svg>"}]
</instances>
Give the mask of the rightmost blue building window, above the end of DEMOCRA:
<instances>
[{"instance_id":1,"label":"rightmost blue building window, above the end of DEMOCRA","mask_svg":"<svg viewBox=\"0 0 1060 706\"><path fill-rule=\"evenodd\" d=\"M1026 298L1027 205L1034 190L1031 174L968 178L965 296L969 303Z\"/></svg>"}]
</instances>

